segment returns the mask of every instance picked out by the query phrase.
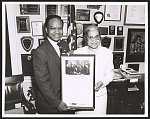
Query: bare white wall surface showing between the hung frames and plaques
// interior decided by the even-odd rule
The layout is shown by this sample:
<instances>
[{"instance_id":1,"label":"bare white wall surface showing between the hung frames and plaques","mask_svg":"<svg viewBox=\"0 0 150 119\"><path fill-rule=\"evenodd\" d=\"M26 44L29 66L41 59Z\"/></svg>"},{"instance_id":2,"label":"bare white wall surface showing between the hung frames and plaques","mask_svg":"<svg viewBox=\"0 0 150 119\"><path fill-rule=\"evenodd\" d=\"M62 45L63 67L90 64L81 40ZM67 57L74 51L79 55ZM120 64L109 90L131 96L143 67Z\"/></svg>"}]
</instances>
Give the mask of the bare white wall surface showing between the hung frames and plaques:
<instances>
[{"instance_id":1,"label":"bare white wall surface showing between the hung frames and plaques","mask_svg":"<svg viewBox=\"0 0 150 119\"><path fill-rule=\"evenodd\" d=\"M42 21L44 23L45 21L45 3L40 4L40 15L21 15L19 10L19 4L6 4L7 7L7 17L8 17L8 29L9 29L9 40L10 40L10 53L11 53L11 64L12 64L12 74L21 74L22 73L22 64L21 64L21 54L30 54L29 52L26 52L21 45L21 38L23 36L31 36L34 39L33 48L36 48L38 46L38 38L42 38L42 36L32 36L32 27L31 22L32 21ZM87 9L86 5L76 5L76 9ZM58 9L60 14L60 7ZM99 10L92 9L91 10L91 16L90 16L90 23L95 23L93 15L96 11L102 11L104 12L104 5L101 6ZM125 5L122 5L122 11L121 11L121 21L102 21L99 26L102 27L109 27L109 25L115 25L117 26L123 26L123 37L125 38L124 42L124 64L125 63L125 55L126 55L126 43L127 43L127 32L128 28L144 28L144 26L131 26L131 25L124 25L124 14L125 14ZM29 16L30 20L30 33L17 33L17 24L16 24L16 16ZM80 21L77 21L80 22ZM89 23L89 21L84 21L82 23ZM109 35L109 37L112 38L112 42L110 45L110 49L113 51L113 39L116 35ZM146 39L147 40L147 39ZM134 62L135 64L140 64L139 71L144 72L145 63L141 62ZM133 64L133 63L132 63Z\"/></svg>"}]
</instances>

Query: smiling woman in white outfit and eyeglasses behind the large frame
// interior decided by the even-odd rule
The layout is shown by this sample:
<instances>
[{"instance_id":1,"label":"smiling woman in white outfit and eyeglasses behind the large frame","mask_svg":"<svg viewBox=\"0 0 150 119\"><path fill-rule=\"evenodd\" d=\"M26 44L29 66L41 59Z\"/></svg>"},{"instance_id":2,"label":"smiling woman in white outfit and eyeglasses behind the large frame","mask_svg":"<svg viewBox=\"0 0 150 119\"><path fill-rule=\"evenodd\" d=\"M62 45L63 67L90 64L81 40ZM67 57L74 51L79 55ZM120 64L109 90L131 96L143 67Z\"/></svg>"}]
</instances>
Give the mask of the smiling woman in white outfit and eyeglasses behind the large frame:
<instances>
[{"instance_id":1,"label":"smiling woman in white outfit and eyeglasses behind the large frame","mask_svg":"<svg viewBox=\"0 0 150 119\"><path fill-rule=\"evenodd\" d=\"M78 48L74 54L95 54L95 109L93 111L76 111L76 114L106 114L106 86L113 80L112 51L101 46L101 34L98 26L89 25L84 34L86 46Z\"/></svg>"}]
</instances>

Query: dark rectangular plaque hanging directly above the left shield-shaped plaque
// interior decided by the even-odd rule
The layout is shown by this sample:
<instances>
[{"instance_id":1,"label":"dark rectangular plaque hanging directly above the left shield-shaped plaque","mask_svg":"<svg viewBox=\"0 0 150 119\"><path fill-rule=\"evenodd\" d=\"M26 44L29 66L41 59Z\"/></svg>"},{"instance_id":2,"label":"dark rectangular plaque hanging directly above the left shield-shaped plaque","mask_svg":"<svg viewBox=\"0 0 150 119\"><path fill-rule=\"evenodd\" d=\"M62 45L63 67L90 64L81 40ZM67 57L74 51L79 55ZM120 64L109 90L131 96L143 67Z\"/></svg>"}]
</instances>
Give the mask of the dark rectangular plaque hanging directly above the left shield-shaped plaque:
<instances>
[{"instance_id":1,"label":"dark rectangular plaque hanging directly above the left shield-shaped plaque","mask_svg":"<svg viewBox=\"0 0 150 119\"><path fill-rule=\"evenodd\" d=\"M17 32L30 33L29 16L16 16Z\"/></svg>"}]
</instances>

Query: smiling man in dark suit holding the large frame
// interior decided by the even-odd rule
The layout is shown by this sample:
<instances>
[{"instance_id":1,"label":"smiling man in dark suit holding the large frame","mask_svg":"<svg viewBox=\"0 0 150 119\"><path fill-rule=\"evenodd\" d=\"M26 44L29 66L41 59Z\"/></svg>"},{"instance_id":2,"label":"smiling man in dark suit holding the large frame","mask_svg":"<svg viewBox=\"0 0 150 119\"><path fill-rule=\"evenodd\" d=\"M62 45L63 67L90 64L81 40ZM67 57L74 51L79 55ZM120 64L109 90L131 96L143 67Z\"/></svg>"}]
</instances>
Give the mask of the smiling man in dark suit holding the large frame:
<instances>
[{"instance_id":1,"label":"smiling man in dark suit holding the large frame","mask_svg":"<svg viewBox=\"0 0 150 119\"><path fill-rule=\"evenodd\" d=\"M68 107L61 101L60 51L67 52L67 42L63 36L63 21L57 15L46 18L44 28L47 40L33 50L33 68L36 88L36 109L39 114L66 113ZM60 42L61 41L61 42ZM58 43L62 44L58 46ZM65 46L65 48L64 48Z\"/></svg>"}]
</instances>

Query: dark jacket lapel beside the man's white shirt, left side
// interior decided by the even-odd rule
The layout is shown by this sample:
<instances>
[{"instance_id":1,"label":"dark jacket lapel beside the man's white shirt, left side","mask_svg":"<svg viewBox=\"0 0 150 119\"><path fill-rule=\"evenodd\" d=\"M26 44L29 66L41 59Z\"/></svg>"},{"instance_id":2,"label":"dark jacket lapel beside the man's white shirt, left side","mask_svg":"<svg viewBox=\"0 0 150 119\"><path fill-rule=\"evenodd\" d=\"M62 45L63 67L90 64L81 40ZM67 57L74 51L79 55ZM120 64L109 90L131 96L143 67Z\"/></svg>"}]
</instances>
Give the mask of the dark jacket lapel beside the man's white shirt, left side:
<instances>
[{"instance_id":1,"label":"dark jacket lapel beside the man's white shirt, left side","mask_svg":"<svg viewBox=\"0 0 150 119\"><path fill-rule=\"evenodd\" d=\"M56 50L52 46L52 44L48 41L48 39L46 40L46 46L47 46L47 49L49 51L48 53L50 54L51 58L53 58L53 61L60 67L60 58Z\"/></svg>"}]
</instances>

